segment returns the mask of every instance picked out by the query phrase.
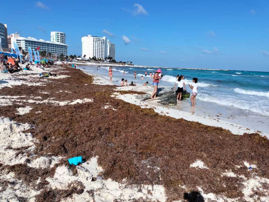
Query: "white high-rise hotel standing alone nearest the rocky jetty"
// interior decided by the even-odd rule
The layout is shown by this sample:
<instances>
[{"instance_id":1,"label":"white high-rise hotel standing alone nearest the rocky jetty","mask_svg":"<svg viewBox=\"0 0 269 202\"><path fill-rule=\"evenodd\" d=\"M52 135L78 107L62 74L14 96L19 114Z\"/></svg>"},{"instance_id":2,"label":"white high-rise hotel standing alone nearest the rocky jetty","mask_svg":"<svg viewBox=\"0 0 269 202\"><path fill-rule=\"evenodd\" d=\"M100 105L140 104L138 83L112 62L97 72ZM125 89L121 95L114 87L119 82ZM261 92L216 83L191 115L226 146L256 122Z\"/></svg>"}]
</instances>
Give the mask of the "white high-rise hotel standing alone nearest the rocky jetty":
<instances>
[{"instance_id":1,"label":"white high-rise hotel standing alone nearest the rocky jetty","mask_svg":"<svg viewBox=\"0 0 269 202\"><path fill-rule=\"evenodd\" d=\"M82 57L86 55L89 57L101 58L104 60L106 57L115 59L115 44L110 42L106 37L94 37L88 35L81 38L82 42Z\"/></svg>"}]
</instances>

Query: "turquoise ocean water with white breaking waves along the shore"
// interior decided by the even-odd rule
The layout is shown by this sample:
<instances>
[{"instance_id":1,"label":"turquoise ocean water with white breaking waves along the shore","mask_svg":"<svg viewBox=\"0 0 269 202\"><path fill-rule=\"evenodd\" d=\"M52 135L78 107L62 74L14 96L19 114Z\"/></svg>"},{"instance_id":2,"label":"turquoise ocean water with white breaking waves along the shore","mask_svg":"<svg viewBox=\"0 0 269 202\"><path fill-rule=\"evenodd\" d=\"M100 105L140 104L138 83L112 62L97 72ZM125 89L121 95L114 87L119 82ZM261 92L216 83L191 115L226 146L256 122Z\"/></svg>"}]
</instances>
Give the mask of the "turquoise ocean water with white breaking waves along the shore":
<instances>
[{"instance_id":1,"label":"turquoise ocean water with white breaking waves along the shore","mask_svg":"<svg viewBox=\"0 0 269 202\"><path fill-rule=\"evenodd\" d=\"M108 77L108 67L83 66L86 72ZM134 81L137 86L142 86L146 81L152 85L149 73L156 71L157 68L144 67L113 67L113 83L120 85L122 78L127 79L128 83ZM233 109L244 110L244 113L258 113L269 116L269 72L250 72L250 71L218 71L218 70L196 70L180 68L161 68L163 78L160 86L173 87L176 76L184 75L187 91L191 92L188 83L192 83L192 78L198 78L198 95L201 103L214 104L214 106L225 106ZM123 75L123 71L125 74ZM134 79L134 71L137 77ZM145 77L145 71L148 76ZM141 80L141 76L144 80Z\"/></svg>"}]
</instances>

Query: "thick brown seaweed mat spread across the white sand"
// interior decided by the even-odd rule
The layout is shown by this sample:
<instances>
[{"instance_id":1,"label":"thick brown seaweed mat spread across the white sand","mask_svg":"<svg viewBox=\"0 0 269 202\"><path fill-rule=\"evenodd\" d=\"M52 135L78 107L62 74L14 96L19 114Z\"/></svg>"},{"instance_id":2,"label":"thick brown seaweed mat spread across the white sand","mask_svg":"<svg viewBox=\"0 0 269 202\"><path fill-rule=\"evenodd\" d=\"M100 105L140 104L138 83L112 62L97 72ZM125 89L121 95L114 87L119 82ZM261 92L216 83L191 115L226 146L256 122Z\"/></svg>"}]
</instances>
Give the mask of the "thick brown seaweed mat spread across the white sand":
<instances>
[{"instance_id":1,"label":"thick brown seaweed mat spread across the white sand","mask_svg":"<svg viewBox=\"0 0 269 202\"><path fill-rule=\"evenodd\" d=\"M2 96L24 96L0 107L0 116L31 125L24 133L31 133L37 142L29 159L31 155L62 157L52 168L29 168L27 162L0 165L1 172L13 172L16 179L40 190L36 200L94 195L94 190L86 192L80 182L70 183L63 190L48 186L47 177L53 177L59 166L78 174L77 168L66 161L74 156L85 160L98 156L97 163L103 168L98 176L103 179L129 186L162 185L167 201L183 200L184 193L191 191L235 201L259 201L269 195L267 138L254 133L234 135L219 127L142 109L111 97L115 86L95 85L93 78L82 71L67 70L62 74L71 77L46 86L0 89ZM32 108L29 113L16 114L19 107L26 106ZM26 148L18 149L18 153L25 151ZM255 166L249 169L248 164ZM33 184L39 177L40 182ZM253 185L246 193L247 182L256 177L268 182ZM1 182L0 186L7 187L8 182Z\"/></svg>"}]
</instances>

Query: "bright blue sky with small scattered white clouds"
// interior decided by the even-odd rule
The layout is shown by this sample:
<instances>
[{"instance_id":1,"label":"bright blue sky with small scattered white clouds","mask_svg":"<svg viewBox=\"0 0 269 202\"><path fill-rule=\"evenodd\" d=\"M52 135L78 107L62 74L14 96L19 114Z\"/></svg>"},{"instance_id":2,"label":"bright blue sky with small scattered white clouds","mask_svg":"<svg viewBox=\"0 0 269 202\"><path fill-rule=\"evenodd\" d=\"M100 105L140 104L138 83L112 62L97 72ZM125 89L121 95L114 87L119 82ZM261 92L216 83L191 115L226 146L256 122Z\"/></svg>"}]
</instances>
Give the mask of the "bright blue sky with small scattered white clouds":
<instances>
[{"instance_id":1,"label":"bright blue sky with small scattered white clouds","mask_svg":"<svg viewBox=\"0 0 269 202\"><path fill-rule=\"evenodd\" d=\"M116 44L116 60L134 64L269 71L267 0L12 4L0 17L8 34L50 40L51 31L65 32L68 54L81 54L81 37L91 34L108 37Z\"/></svg>"}]
</instances>

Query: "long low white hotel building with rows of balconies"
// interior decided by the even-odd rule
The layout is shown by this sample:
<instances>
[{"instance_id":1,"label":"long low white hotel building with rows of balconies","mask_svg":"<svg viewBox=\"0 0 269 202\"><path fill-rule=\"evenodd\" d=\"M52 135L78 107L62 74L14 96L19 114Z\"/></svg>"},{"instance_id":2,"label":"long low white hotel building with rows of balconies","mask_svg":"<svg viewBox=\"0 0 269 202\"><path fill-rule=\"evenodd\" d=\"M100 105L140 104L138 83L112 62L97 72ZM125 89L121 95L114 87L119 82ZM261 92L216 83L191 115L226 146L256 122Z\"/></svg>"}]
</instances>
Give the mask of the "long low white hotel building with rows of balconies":
<instances>
[{"instance_id":1,"label":"long low white hotel building with rows of balconies","mask_svg":"<svg viewBox=\"0 0 269 202\"><path fill-rule=\"evenodd\" d=\"M22 50L28 52L28 47L36 49L40 47L40 51L46 51L47 53L52 54L54 57L59 57L61 54L67 56L68 45L59 43L59 42L51 42L45 41L43 39L35 39L32 37L20 37L18 32L10 35L11 46L14 48L13 41L16 41L18 46L22 47Z\"/></svg>"}]
</instances>

